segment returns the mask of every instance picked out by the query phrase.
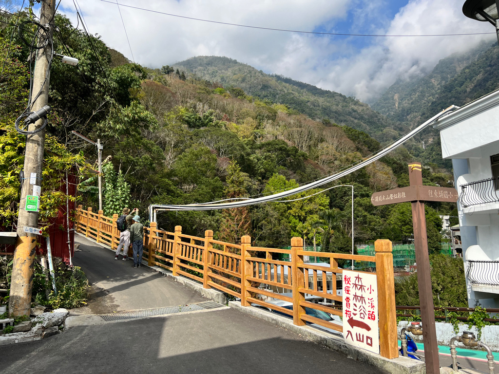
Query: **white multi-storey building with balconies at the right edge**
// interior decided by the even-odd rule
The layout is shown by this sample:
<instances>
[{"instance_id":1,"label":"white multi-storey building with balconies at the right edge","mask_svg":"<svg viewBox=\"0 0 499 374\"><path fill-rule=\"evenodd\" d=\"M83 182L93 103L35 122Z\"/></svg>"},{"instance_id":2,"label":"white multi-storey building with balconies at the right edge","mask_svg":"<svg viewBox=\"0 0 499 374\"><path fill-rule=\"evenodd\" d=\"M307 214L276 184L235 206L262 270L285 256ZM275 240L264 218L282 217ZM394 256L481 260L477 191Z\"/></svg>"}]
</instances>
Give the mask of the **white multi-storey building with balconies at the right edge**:
<instances>
[{"instance_id":1,"label":"white multi-storey building with balconies at the right edge","mask_svg":"<svg viewBox=\"0 0 499 374\"><path fill-rule=\"evenodd\" d=\"M468 304L499 308L499 90L440 118L452 159Z\"/></svg>"}]
</instances>

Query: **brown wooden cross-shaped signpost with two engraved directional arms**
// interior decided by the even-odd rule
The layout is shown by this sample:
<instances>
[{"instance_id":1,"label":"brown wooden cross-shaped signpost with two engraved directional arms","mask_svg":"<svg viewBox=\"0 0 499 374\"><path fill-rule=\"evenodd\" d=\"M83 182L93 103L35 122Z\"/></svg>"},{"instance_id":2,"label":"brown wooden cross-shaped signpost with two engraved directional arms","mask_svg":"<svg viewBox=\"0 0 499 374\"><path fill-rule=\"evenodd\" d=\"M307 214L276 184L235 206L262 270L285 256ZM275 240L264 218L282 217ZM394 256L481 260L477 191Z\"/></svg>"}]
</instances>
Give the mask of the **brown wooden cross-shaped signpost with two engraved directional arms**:
<instances>
[{"instance_id":1,"label":"brown wooden cross-shaped signpost with two engraved directional arms","mask_svg":"<svg viewBox=\"0 0 499 374\"><path fill-rule=\"evenodd\" d=\"M373 205L378 206L411 201L426 373L438 374L440 373L440 364L438 359L437 332L435 330L435 311L433 309L424 201L456 202L458 200L458 192L455 188L423 186L420 163L409 164L409 183L409 187L375 192L371 196L371 202Z\"/></svg>"}]
</instances>

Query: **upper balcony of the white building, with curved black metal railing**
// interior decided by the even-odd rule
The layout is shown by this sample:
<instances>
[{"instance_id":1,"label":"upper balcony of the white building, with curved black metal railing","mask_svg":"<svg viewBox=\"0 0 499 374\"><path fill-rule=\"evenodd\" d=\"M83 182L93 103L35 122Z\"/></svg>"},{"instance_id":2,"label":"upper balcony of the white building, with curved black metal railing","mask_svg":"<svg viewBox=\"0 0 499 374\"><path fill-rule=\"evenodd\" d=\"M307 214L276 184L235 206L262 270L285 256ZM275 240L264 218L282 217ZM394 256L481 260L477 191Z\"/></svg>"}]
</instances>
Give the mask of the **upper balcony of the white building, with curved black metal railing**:
<instances>
[{"instance_id":1,"label":"upper balcony of the white building, with curved black metal railing","mask_svg":"<svg viewBox=\"0 0 499 374\"><path fill-rule=\"evenodd\" d=\"M460 177L461 179L461 177ZM458 180L459 182L459 180ZM490 213L499 209L499 178L487 178L459 185L459 202L464 213Z\"/></svg>"}]
</instances>

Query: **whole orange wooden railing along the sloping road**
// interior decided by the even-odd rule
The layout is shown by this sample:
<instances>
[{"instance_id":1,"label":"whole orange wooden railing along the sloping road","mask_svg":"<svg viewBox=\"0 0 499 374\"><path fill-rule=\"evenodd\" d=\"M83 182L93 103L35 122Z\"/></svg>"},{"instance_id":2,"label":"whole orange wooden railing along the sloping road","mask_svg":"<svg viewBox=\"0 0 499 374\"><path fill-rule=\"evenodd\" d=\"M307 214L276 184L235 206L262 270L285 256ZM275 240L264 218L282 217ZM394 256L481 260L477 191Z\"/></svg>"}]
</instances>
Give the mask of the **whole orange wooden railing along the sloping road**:
<instances>
[{"instance_id":1,"label":"whole orange wooden railing along the sloping road","mask_svg":"<svg viewBox=\"0 0 499 374\"><path fill-rule=\"evenodd\" d=\"M92 208L84 210L80 205L76 217L78 232L112 249L117 247L118 214L109 218L102 211L96 214ZM204 288L216 288L240 298L243 306L257 304L291 316L295 325L308 322L339 332L343 332L340 324L310 316L305 308L342 316L340 305L311 303L305 300L305 294L341 303L343 298L337 293L336 275L343 269L338 267L338 260L376 262L380 355L393 359L398 357L398 343L391 244L389 240L377 240L375 256L304 251L303 239L297 237L291 239L291 249L252 247L248 235L242 237L241 244L233 244L215 240L212 230L206 230L202 238L183 234L181 226L175 226L174 232L158 230L156 222L151 222L151 227L144 227L143 256L149 266L162 267L173 275L200 282ZM288 254L291 261L274 259L278 253ZM304 256L328 258L329 266L305 263ZM279 293L279 289L290 292L291 296ZM268 303L258 295L290 302L293 308Z\"/></svg>"}]
</instances>

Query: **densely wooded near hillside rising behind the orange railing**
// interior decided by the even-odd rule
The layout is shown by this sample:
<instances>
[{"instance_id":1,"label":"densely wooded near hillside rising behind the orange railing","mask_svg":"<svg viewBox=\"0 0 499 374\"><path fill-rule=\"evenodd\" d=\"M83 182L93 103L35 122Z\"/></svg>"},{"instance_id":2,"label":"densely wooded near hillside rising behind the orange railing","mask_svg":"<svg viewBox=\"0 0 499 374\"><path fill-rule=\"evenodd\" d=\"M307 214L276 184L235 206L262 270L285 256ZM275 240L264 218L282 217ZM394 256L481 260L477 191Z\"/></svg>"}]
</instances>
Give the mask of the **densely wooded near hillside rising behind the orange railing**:
<instances>
[{"instance_id":1,"label":"densely wooded near hillside rising behind the orange railing","mask_svg":"<svg viewBox=\"0 0 499 374\"><path fill-rule=\"evenodd\" d=\"M355 127L369 128L371 123L382 131L383 124L390 124L356 100L291 81L295 86L229 59L222 59L229 65L227 71L219 65L212 80L189 72L177 74L167 66L148 69L129 63L101 39L75 30L67 17L56 15L55 22L60 30L54 38L55 51L63 53L67 48L79 63L75 68L54 59L51 66L52 112L47 142L52 147L47 150L57 149L57 155L67 155L61 165L73 164L70 155L77 156L81 165L94 164L95 147L75 138L71 131L100 139L105 145L103 159L109 161L103 167L106 216L119 213L123 206L147 212L151 203L192 204L271 194L348 169L380 149L378 141L342 125L341 120L323 121L322 116L315 115L310 118L282 104L279 95L284 93L300 100L302 95L324 107L334 103L335 107L347 108L350 112L341 113ZM24 161L24 143L14 121L27 102L32 74L24 62L30 48L12 32L14 25L0 24L0 60L5 61L0 74L0 225L7 229L15 229L20 185L17 176ZM11 35L15 47L9 53ZM249 91L238 88L241 84L224 86L217 78L231 76L234 81L234 66L242 69L236 78L238 83L247 84L244 87ZM275 101L270 100L273 96L269 92L276 95ZM304 108L312 107L307 104ZM366 122L355 120L354 115ZM323 250L335 252L351 251L352 229L357 242L378 238L400 241L412 234L410 204L376 207L370 196L373 191L407 186L407 164L414 155L399 149L336 181L354 186L353 228L349 187L315 188L294 195L296 201L224 211L160 212L158 224L169 231L181 225L184 233L198 236L211 229L217 239L230 242L248 234L257 246L288 246L292 236L304 237L310 243L315 237ZM45 171L50 165L48 156ZM435 164L425 165L423 173L426 184L445 187L452 179ZM81 175L81 179L78 203L97 210L95 176ZM64 197L47 184L41 196L40 216L57 214L54 201L63 201ZM453 208L438 202L427 205L432 251L440 250L442 239L437 209L450 213Z\"/></svg>"}]
</instances>

